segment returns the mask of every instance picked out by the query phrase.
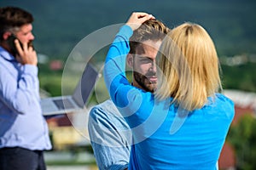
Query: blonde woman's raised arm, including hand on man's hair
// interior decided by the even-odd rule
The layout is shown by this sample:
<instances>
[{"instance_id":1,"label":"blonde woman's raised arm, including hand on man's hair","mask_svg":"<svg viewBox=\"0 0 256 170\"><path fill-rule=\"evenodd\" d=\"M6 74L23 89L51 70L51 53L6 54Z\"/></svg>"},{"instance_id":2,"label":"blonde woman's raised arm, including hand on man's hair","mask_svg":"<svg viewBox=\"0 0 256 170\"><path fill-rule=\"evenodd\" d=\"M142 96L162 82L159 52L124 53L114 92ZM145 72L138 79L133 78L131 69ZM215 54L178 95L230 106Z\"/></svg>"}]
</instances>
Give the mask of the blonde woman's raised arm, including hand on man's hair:
<instances>
[{"instance_id":1,"label":"blonde woman's raised arm, including hand on man's hair","mask_svg":"<svg viewBox=\"0 0 256 170\"><path fill-rule=\"evenodd\" d=\"M151 14L131 14L125 26L120 28L119 33L108 50L104 66L104 77L108 92L117 106L125 107L129 103L125 96L128 96L131 88L133 88L125 77L125 58L130 51L129 38L134 30L141 26L144 21L150 19L154 19Z\"/></svg>"}]
</instances>

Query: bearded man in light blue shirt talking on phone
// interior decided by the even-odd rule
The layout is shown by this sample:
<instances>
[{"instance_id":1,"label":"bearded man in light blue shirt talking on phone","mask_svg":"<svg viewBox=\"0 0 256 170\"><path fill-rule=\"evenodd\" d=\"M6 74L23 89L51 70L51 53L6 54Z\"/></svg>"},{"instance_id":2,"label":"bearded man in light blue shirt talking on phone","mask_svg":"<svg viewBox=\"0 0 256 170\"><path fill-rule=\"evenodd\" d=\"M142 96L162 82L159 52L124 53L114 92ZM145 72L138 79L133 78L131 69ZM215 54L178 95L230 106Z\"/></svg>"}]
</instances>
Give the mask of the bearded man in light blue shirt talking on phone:
<instances>
[{"instance_id":1,"label":"bearded man in light blue shirt talking on phone","mask_svg":"<svg viewBox=\"0 0 256 170\"><path fill-rule=\"evenodd\" d=\"M32 14L0 8L0 169L44 170L49 131L40 107Z\"/></svg>"}]
</instances>

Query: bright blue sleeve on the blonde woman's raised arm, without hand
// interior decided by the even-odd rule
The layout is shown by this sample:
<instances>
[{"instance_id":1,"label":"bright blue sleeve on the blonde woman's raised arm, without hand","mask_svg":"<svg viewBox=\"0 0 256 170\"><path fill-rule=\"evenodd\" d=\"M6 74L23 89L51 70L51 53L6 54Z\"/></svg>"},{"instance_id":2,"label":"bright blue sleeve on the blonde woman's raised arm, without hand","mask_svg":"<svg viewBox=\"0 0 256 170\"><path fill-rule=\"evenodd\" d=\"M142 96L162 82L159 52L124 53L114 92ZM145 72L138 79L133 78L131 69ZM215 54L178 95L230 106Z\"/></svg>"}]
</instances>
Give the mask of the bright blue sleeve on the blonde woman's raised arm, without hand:
<instances>
[{"instance_id":1,"label":"bright blue sleeve on the blonde woman's raised arm, without hand","mask_svg":"<svg viewBox=\"0 0 256 170\"><path fill-rule=\"evenodd\" d=\"M131 86L125 77L126 55L130 51L130 26L122 26L111 44L104 65L103 75L106 87L130 127L136 127L148 119L154 105L154 94ZM136 121L134 121L136 120Z\"/></svg>"}]
</instances>

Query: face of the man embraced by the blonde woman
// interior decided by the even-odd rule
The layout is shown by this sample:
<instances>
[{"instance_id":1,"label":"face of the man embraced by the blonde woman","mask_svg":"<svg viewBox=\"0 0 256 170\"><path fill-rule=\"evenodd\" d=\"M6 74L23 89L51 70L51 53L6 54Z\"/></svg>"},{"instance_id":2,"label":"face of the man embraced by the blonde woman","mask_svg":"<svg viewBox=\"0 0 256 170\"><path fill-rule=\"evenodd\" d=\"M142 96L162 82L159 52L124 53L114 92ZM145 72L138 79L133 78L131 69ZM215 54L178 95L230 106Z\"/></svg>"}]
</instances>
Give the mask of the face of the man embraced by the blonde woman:
<instances>
[{"instance_id":1,"label":"face of the man embraced by the blonde woman","mask_svg":"<svg viewBox=\"0 0 256 170\"><path fill-rule=\"evenodd\" d=\"M155 58L161 41L143 42L133 54L133 85L147 92L154 92L157 87Z\"/></svg>"}]
</instances>

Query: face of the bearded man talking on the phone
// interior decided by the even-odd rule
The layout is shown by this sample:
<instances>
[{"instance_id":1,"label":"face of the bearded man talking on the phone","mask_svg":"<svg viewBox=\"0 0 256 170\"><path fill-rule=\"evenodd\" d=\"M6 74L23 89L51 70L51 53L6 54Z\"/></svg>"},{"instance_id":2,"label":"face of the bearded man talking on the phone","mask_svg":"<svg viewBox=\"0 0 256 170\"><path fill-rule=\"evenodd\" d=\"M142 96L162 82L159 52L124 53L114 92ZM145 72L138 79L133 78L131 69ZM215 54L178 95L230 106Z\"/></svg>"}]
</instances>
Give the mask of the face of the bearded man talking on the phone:
<instances>
[{"instance_id":1,"label":"face of the bearded man talking on the phone","mask_svg":"<svg viewBox=\"0 0 256 170\"><path fill-rule=\"evenodd\" d=\"M20 30L15 32L15 36L22 43L32 42L34 40L34 36L32 34L32 24L26 24L20 27Z\"/></svg>"}]
</instances>

